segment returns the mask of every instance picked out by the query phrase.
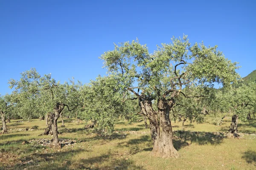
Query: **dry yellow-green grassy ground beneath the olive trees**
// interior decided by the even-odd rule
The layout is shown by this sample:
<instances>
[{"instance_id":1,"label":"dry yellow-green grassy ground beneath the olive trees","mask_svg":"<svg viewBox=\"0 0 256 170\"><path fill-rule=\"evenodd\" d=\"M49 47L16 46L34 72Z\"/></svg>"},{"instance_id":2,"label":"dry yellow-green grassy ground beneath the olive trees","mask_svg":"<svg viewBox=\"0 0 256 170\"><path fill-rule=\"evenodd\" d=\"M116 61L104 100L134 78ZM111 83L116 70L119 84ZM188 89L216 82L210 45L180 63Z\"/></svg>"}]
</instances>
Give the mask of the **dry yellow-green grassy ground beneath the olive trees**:
<instances>
[{"instance_id":1,"label":"dry yellow-green grassy ground beneath the olive trees","mask_svg":"<svg viewBox=\"0 0 256 170\"><path fill-rule=\"evenodd\" d=\"M184 131L182 122L173 123L174 146L180 158L162 159L150 154L152 142L144 122L120 121L112 136L100 137L93 130L83 130L84 124L72 120L65 119L65 127L58 123L62 133L60 139L76 140L75 144L65 145L62 149L30 142L52 138L38 136L46 127L45 121L12 120L7 124L9 133L0 135L0 170L256 169L256 121L243 123L239 120L239 132L246 133L241 134L240 139L223 135L229 129L231 116L224 119L221 126L213 125L210 119L203 124L186 122ZM25 130L35 125L38 129Z\"/></svg>"}]
</instances>

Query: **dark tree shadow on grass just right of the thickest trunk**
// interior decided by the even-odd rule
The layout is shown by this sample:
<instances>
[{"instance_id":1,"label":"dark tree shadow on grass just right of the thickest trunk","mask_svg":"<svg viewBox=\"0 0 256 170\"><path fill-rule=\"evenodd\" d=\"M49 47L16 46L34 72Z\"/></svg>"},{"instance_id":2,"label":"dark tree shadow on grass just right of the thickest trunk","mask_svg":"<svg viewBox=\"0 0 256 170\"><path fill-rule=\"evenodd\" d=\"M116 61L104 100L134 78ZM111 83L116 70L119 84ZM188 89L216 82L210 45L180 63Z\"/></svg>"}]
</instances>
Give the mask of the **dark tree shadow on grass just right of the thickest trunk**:
<instances>
[{"instance_id":1,"label":"dark tree shadow on grass just right of the thickest trunk","mask_svg":"<svg viewBox=\"0 0 256 170\"><path fill-rule=\"evenodd\" d=\"M174 131L174 138L183 140L184 142L190 141L192 143L197 143L199 145L212 144L217 145L223 142L226 138L224 133L219 132L191 132L177 130Z\"/></svg>"}]
</instances>

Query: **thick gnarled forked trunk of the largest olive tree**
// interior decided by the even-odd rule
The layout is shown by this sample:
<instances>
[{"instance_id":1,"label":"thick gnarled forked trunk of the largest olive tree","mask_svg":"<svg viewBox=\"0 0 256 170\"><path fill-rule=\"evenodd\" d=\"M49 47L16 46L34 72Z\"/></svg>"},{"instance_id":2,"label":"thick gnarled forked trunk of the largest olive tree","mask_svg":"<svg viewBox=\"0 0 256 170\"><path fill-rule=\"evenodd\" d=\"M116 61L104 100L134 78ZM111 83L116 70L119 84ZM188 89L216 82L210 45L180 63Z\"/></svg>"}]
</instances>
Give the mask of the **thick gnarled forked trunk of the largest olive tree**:
<instances>
[{"instance_id":1,"label":"thick gnarled forked trunk of the largest olive tree","mask_svg":"<svg viewBox=\"0 0 256 170\"><path fill-rule=\"evenodd\" d=\"M174 105L174 100L171 101L170 107L166 99L159 99L157 103L159 119L157 112L152 108L150 100L140 96L139 105L141 113L146 115L150 122L149 127L151 138L153 140L153 155L164 158L179 157L179 154L172 143L172 125L169 117L169 111Z\"/></svg>"}]
</instances>

